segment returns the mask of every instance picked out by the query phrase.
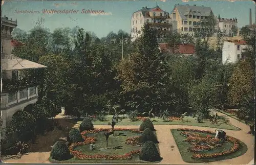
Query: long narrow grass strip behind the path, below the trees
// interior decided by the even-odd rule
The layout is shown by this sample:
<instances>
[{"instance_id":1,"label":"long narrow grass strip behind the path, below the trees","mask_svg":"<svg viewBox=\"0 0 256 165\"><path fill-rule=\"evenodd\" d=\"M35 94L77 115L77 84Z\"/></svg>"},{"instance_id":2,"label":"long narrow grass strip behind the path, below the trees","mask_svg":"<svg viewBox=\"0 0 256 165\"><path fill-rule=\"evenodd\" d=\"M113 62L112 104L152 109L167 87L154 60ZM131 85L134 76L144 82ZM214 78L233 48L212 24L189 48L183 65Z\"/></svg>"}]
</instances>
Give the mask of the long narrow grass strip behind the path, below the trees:
<instances>
[{"instance_id":1,"label":"long narrow grass strip behind the path, below the trees","mask_svg":"<svg viewBox=\"0 0 256 165\"><path fill-rule=\"evenodd\" d=\"M97 120L97 121L92 121L92 123L94 125L108 125L108 123L111 122L112 116L113 115L106 116L106 120L103 122ZM122 116L122 115L120 115L120 116ZM82 122L81 120L82 119L80 119L80 120L72 119L71 122L80 125ZM124 119L122 119L121 122L118 122L116 125L140 125L141 122L142 122L141 120L132 122L132 121L130 121L130 119L124 118ZM158 117L156 117L153 120L153 124L154 125L188 125L188 126L211 127L211 128L229 129L229 130L241 130L238 127L235 127L233 125L228 125L228 124L225 124L222 122L219 122L218 124L212 124L210 121L205 120L201 123L198 123L196 120L196 117L193 118L191 116L185 116L183 121L177 120L177 121L167 121L167 122L163 122L161 119L158 119Z\"/></svg>"}]
</instances>

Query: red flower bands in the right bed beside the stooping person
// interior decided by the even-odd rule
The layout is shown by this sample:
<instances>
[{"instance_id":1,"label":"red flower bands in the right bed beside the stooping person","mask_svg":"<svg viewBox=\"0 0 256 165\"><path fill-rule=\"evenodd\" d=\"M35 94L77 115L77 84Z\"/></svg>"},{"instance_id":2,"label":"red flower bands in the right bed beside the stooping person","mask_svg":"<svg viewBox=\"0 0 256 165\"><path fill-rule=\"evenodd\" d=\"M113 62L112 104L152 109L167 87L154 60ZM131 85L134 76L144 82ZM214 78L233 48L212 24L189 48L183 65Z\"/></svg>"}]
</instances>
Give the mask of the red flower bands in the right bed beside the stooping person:
<instances>
[{"instance_id":1,"label":"red flower bands in the right bed beside the stooping person","mask_svg":"<svg viewBox=\"0 0 256 165\"><path fill-rule=\"evenodd\" d=\"M198 137L198 135L195 135L194 133L190 133L190 132L201 132L201 133L207 133L207 134L211 134L214 135L214 132L211 131L203 131L203 130L198 130L198 129L177 129L178 131L182 131L181 134L185 135L187 137L187 139L185 139L186 142L190 142L190 143L195 143L194 148L190 148L192 149L192 151L200 151L200 150L207 150L207 147L202 147L202 145L196 146L196 144L200 144L200 143L209 143L211 145L215 145L215 147L217 147L219 144L219 139L218 138L212 138L210 135L206 136L206 137ZM189 132L187 132L189 131ZM194 154L191 158L193 159L203 159L203 158L215 158L215 157L219 157L219 156L225 156L225 155L229 155L232 154L234 152L237 152L240 148L240 142L238 139L231 137L231 136L226 136L226 141L232 143L232 147L228 150L228 151L223 151L223 152L218 152L218 153L212 153L212 154L202 154L202 153L197 153Z\"/></svg>"}]
</instances>

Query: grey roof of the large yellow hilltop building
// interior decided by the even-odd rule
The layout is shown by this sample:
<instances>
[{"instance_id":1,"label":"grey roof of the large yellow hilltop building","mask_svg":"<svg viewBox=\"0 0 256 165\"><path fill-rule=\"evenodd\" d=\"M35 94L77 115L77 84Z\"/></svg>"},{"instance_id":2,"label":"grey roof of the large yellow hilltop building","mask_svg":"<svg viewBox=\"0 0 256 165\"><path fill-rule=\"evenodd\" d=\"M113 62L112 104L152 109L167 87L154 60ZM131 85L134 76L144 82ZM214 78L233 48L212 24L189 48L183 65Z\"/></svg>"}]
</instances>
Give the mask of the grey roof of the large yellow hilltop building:
<instances>
[{"instance_id":1,"label":"grey roof of the large yellow hilltop building","mask_svg":"<svg viewBox=\"0 0 256 165\"><path fill-rule=\"evenodd\" d=\"M185 17L186 14L189 13L191 10L193 12L193 15L197 16L209 16L212 12L210 7L205 6L189 6L189 5L175 5L175 8L179 12L182 19L187 19Z\"/></svg>"}]
</instances>

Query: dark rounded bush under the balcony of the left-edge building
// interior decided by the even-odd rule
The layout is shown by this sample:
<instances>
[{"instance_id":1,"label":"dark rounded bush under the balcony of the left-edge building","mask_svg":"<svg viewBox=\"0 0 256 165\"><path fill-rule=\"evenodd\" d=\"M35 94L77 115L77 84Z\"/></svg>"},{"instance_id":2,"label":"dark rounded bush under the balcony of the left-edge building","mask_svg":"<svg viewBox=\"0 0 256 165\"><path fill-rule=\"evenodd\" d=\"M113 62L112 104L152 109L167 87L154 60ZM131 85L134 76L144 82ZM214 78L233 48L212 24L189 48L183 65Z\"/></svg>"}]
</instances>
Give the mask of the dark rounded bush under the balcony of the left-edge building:
<instances>
[{"instance_id":1,"label":"dark rounded bush under the balcony of the left-edge building","mask_svg":"<svg viewBox=\"0 0 256 165\"><path fill-rule=\"evenodd\" d=\"M28 142L35 135L35 118L32 114L26 111L17 111L12 116L7 137L13 133L18 134L18 139L21 142Z\"/></svg>"}]
</instances>

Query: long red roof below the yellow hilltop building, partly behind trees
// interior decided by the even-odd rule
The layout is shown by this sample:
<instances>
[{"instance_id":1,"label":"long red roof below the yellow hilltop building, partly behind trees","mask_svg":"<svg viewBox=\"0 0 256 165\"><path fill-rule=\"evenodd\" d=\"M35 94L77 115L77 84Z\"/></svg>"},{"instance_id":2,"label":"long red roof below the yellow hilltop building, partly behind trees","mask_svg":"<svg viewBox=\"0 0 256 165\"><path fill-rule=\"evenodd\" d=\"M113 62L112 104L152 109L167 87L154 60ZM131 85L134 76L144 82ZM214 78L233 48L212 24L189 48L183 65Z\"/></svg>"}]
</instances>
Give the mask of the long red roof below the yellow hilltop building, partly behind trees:
<instances>
[{"instance_id":1,"label":"long red roof below the yellow hilltop building, partly behind trees","mask_svg":"<svg viewBox=\"0 0 256 165\"><path fill-rule=\"evenodd\" d=\"M160 50L162 52L171 52L172 50L170 50L168 47L167 43L160 43ZM173 51L172 51L173 52ZM193 44L179 44L178 49L175 50L175 53L177 54L194 54L196 53L196 49L195 46Z\"/></svg>"}]
</instances>

